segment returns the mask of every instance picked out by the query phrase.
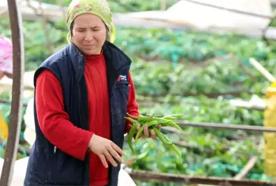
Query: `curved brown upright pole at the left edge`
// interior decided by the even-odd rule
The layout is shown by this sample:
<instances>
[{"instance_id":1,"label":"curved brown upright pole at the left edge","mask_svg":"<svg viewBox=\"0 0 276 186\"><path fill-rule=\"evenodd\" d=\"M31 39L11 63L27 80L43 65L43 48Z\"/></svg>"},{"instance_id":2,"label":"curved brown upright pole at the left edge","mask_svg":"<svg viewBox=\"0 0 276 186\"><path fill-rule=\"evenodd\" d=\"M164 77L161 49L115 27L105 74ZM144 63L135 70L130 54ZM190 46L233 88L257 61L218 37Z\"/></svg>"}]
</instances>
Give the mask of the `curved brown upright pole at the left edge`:
<instances>
[{"instance_id":1,"label":"curved brown upright pole at the left edge","mask_svg":"<svg viewBox=\"0 0 276 186\"><path fill-rule=\"evenodd\" d=\"M22 16L16 0L8 0L8 13L13 41L13 95L6 153L1 173L1 186L10 186L17 157L17 145L22 122L22 93L24 74L24 45Z\"/></svg>"}]
</instances>

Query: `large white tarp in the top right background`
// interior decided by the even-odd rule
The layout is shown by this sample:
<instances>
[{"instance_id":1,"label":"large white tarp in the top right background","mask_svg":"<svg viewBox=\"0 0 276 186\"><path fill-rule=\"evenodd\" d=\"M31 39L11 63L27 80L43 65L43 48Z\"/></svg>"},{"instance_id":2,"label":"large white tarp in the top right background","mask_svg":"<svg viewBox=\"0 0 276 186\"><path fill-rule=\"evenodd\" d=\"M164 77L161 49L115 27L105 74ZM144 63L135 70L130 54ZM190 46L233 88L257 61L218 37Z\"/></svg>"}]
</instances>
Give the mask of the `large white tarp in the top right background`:
<instances>
[{"instance_id":1,"label":"large white tarp in the top right background","mask_svg":"<svg viewBox=\"0 0 276 186\"><path fill-rule=\"evenodd\" d=\"M193 0L199 3L206 3L222 8L239 10L240 12L253 13L272 17L272 9L269 0ZM178 24L185 24L190 28L216 30L217 32L233 31L254 35L262 31L270 23L266 17L245 15L230 10L222 10L210 6L204 6L190 1L178 1L165 11L148 11L130 13L132 17L139 17L148 20L166 20Z\"/></svg>"}]
</instances>

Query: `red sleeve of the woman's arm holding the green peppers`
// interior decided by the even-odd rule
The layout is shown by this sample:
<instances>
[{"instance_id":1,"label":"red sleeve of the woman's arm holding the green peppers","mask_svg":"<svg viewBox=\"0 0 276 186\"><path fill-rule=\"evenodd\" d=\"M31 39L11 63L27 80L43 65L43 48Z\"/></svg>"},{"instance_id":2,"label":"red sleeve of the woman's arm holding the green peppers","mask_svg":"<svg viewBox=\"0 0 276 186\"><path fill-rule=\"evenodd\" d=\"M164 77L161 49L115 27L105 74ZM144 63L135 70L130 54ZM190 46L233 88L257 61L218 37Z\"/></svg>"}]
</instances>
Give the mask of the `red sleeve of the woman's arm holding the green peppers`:
<instances>
[{"instance_id":1,"label":"red sleeve of the woman's arm holding the green peppers","mask_svg":"<svg viewBox=\"0 0 276 186\"><path fill-rule=\"evenodd\" d=\"M130 84L130 92L128 94L128 107L127 112L128 114L132 116L139 116L139 110L138 110L138 103L135 96L135 86L132 81L132 77L130 75L130 72L128 72L128 84ZM132 124L130 121L126 121L126 127L125 132L128 133L130 131L130 124Z\"/></svg>"}]
</instances>

